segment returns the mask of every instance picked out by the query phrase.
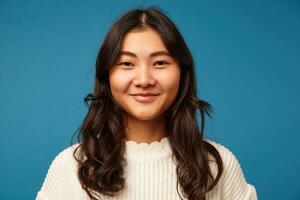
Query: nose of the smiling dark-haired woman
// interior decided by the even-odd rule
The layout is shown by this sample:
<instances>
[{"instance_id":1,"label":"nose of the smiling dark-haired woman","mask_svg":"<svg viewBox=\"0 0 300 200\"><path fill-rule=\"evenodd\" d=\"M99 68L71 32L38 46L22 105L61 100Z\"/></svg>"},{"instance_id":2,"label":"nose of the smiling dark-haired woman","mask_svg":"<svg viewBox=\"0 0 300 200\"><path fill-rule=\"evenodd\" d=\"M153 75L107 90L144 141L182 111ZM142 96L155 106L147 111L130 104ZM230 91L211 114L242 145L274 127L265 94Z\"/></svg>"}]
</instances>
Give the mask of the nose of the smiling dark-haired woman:
<instances>
[{"instance_id":1,"label":"nose of the smiling dark-haired woman","mask_svg":"<svg viewBox=\"0 0 300 200\"><path fill-rule=\"evenodd\" d=\"M155 78L153 77L151 69L149 69L146 65L140 66L137 70L133 83L136 87L148 87L155 85Z\"/></svg>"}]
</instances>

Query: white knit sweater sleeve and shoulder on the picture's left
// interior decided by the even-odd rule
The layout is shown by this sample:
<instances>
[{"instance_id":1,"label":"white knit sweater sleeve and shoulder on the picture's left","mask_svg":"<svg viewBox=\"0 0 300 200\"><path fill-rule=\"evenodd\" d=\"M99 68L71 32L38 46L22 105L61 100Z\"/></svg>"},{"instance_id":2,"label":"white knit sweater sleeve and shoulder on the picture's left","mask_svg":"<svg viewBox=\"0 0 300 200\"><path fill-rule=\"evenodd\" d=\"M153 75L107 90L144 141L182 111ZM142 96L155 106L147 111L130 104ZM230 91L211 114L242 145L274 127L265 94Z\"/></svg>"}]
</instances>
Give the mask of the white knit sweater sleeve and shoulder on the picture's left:
<instances>
[{"instance_id":1,"label":"white knit sweater sleeve and shoulder on the picture's left","mask_svg":"<svg viewBox=\"0 0 300 200\"><path fill-rule=\"evenodd\" d=\"M76 191L76 160L71 147L60 152L48 168L36 200L72 199Z\"/></svg>"}]
</instances>

